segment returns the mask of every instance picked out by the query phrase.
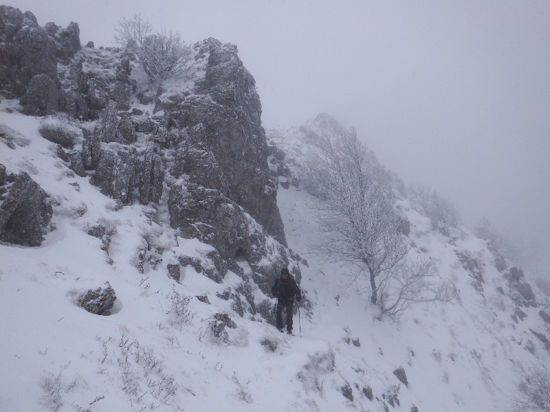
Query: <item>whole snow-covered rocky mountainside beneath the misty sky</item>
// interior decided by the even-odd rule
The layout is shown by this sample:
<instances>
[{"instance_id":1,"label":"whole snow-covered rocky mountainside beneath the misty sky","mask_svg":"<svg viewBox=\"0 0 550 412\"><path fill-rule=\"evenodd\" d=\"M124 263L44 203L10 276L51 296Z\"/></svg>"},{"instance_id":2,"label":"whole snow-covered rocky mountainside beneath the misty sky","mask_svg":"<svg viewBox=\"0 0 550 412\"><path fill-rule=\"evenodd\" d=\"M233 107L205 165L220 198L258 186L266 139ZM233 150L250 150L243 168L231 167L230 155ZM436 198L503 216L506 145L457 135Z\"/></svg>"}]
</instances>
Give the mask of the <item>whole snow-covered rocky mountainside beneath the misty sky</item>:
<instances>
[{"instance_id":1,"label":"whole snow-covered rocky mountainside beneath the misty sky","mask_svg":"<svg viewBox=\"0 0 550 412\"><path fill-rule=\"evenodd\" d=\"M5 19L7 9L0 10ZM23 19L32 22L28 13ZM0 243L0 327L8 336L0 343L0 410L507 409L522 371L549 364L548 299L519 268L498 263L485 241L463 228L433 229L388 172L410 224L410 253L435 260L460 302L428 302L397 323L380 321L362 284L351 282L350 266L316 253L313 198L300 187L309 150L344 128L320 115L265 137L257 93L248 100L253 78L236 47L208 39L195 52L197 77L168 80L159 95L138 87L120 50L81 49L80 74L78 62L61 61L63 76L74 77L68 84L82 86L90 76L94 93L85 99L94 102L93 118L25 115L27 92L18 92L22 100L4 92L0 207L24 173L50 196L39 203L52 207L54 227L40 224L39 244ZM225 89L231 71L210 65L212 54L243 76L243 89ZM89 74L100 67L114 79L103 95L95 91L104 79ZM206 79L209 67L210 80L197 89L193 79ZM135 92L111 99L111 85L131 85L132 76ZM232 107L234 98L251 111ZM252 126L232 123L235 113L248 113L243 121ZM44 130L66 137L67 147ZM236 130L246 130L242 146L225 150L222 140L234 140ZM246 157L243 148L255 150L259 172L226 172ZM222 152L232 152L225 164ZM235 183L248 186L235 176L259 176L255 191L235 195ZM258 187L274 201L266 216L277 211L280 220L270 231L257 205L241 204L254 201ZM272 325L269 288L286 265L305 291L298 336ZM82 307L89 290L108 288L117 297L109 316Z\"/></svg>"}]
</instances>

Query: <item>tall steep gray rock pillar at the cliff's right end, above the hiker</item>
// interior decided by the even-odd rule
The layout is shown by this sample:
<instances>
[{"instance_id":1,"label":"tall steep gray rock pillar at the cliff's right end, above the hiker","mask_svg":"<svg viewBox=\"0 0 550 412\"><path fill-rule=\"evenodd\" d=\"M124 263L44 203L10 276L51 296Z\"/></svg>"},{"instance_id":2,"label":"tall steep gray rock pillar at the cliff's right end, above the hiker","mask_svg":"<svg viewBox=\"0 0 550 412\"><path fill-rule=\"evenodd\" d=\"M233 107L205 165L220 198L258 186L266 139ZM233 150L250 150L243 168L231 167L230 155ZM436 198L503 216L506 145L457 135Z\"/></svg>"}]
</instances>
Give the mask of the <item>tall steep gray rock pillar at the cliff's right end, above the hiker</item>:
<instances>
[{"instance_id":1,"label":"tall steep gray rock pillar at the cliff's right end, above the hiker","mask_svg":"<svg viewBox=\"0 0 550 412\"><path fill-rule=\"evenodd\" d=\"M234 45L209 38L195 49L199 56L208 53L206 76L177 119L188 127L188 159L195 165L207 159L217 177L208 179L206 170L195 168L194 183L219 190L286 245L254 78Z\"/></svg>"}]
</instances>

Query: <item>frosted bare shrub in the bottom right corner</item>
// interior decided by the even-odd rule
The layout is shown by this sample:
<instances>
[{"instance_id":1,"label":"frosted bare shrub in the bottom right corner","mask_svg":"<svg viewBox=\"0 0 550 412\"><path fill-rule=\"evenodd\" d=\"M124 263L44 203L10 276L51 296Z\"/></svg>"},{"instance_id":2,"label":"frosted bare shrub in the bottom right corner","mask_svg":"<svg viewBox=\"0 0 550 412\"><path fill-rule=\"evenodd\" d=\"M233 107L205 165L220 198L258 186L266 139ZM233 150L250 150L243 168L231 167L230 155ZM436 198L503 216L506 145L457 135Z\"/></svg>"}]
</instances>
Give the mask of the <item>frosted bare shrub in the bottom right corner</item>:
<instances>
[{"instance_id":1,"label":"frosted bare shrub in the bottom right corner","mask_svg":"<svg viewBox=\"0 0 550 412\"><path fill-rule=\"evenodd\" d=\"M535 365L518 385L519 393L512 400L513 412L550 411L550 371Z\"/></svg>"}]
</instances>

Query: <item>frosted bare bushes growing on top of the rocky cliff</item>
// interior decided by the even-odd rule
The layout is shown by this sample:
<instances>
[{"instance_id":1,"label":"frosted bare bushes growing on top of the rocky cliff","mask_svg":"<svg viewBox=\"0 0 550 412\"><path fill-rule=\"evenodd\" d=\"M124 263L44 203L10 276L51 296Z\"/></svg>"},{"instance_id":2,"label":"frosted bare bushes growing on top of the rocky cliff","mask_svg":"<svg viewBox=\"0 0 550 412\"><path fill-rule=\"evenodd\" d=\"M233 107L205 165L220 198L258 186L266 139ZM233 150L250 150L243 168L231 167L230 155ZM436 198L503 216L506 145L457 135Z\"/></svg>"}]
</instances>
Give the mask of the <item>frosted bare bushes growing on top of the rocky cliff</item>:
<instances>
[{"instance_id":1,"label":"frosted bare bushes growing on top of the rocky cliff","mask_svg":"<svg viewBox=\"0 0 550 412\"><path fill-rule=\"evenodd\" d=\"M115 31L115 41L135 54L140 69L151 82L178 76L190 60L191 48L179 34L164 29L153 34L151 23L140 14L122 18Z\"/></svg>"}]
</instances>

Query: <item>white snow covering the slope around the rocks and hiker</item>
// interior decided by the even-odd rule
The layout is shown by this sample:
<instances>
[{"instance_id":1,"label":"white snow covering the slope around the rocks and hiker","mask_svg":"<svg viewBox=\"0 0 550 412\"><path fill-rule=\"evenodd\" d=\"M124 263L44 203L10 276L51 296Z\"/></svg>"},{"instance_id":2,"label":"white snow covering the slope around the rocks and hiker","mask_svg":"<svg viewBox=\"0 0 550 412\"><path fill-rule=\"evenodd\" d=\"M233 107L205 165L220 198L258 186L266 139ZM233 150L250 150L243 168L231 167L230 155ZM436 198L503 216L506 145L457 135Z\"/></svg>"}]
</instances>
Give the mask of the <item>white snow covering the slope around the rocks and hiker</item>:
<instances>
[{"instance_id":1,"label":"white snow covering the slope around the rocks and hiker","mask_svg":"<svg viewBox=\"0 0 550 412\"><path fill-rule=\"evenodd\" d=\"M40 119L7 113L8 106L17 108L3 101L0 122L28 144L16 141L12 150L0 141L0 163L8 173L30 173L57 204L55 229L41 247L0 244L0 411L382 411L381 402L362 393L368 386L386 403L388 391L397 391L397 411L415 404L419 411L501 412L522 369L550 365L529 330L547 332L538 315L547 299L536 292L541 307L522 308L527 318L515 323L514 304L496 292L498 286L507 290L507 283L485 244L466 232L450 244L406 200L400 204L411 222L412 253L437 260L441 279L456 282L459 303L412 306L397 323L377 320L376 308L358 292L362 285L349 285L351 268L316 253L320 235L307 209L309 195L290 185L279 187L278 207L289 248L307 260L300 266L301 288L313 306L311 317L305 308L296 314L296 336L250 314L241 318L218 296L240 284L234 273L222 284L190 266L182 268L179 283L167 276L166 264L178 255L201 258L212 247L155 226L146 207L114 211L111 199L87 178L67 173L55 145L39 135ZM307 152L299 132L281 133L277 144L289 157ZM99 221L117 229L109 256L86 233ZM257 225L252 218L250 225ZM164 254L156 268L140 273L134 260L144 233L155 234ZM456 251L484 262L484 295L472 287ZM245 261L239 264L250 271ZM76 306L79 293L106 282L118 297L111 316ZM167 313L175 293L192 297L188 322ZM252 293L256 302L266 299L259 288ZM210 332L217 313L237 325L226 328L229 342ZM534 354L525 347L529 340ZM394 376L398 367L404 367L408 387ZM353 402L342 396L347 383Z\"/></svg>"}]
</instances>

